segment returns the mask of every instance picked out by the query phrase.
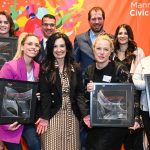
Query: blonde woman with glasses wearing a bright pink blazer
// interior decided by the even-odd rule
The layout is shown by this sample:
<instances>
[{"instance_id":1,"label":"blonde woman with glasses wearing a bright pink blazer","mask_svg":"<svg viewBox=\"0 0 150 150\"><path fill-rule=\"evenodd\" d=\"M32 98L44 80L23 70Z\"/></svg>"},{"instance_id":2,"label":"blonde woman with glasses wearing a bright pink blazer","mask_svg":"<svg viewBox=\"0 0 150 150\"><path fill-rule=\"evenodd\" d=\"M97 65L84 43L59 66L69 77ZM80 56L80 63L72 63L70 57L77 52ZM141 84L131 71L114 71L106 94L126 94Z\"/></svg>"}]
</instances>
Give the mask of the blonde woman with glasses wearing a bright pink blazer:
<instances>
[{"instance_id":1,"label":"blonde woman with glasses wearing a bright pink blazer","mask_svg":"<svg viewBox=\"0 0 150 150\"><path fill-rule=\"evenodd\" d=\"M18 39L18 50L13 60L6 62L0 71L0 78L36 81L38 80L39 64L33 61L39 53L39 39L28 33L22 33ZM21 150L21 136L31 150L40 150L40 140L34 125L20 125L14 122L0 125L0 140L8 150Z\"/></svg>"}]
</instances>

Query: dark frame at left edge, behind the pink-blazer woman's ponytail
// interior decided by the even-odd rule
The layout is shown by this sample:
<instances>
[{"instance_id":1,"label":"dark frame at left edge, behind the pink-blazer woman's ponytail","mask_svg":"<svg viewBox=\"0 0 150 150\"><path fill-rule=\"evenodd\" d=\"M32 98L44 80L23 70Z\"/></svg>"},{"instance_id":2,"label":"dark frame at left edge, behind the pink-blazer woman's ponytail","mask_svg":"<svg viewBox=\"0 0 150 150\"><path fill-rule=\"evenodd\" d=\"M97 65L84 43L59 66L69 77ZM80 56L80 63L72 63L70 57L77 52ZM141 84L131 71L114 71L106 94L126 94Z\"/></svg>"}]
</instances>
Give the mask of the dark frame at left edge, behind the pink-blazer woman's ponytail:
<instances>
[{"instance_id":1,"label":"dark frame at left edge, behind the pink-blazer woman's ponytail","mask_svg":"<svg viewBox=\"0 0 150 150\"><path fill-rule=\"evenodd\" d=\"M17 50L17 37L1 37L0 36L0 69L3 64L11 60Z\"/></svg>"}]
</instances>

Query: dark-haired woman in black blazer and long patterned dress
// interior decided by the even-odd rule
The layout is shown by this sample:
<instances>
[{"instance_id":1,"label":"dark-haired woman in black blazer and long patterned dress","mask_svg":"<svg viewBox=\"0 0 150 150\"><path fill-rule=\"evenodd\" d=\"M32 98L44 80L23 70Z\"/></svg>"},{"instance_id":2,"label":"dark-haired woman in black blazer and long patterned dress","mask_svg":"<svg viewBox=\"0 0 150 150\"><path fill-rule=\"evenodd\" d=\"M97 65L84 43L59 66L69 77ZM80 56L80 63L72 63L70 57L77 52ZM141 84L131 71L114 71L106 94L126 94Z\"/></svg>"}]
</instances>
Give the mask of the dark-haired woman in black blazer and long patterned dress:
<instances>
[{"instance_id":1,"label":"dark-haired woman in black blazer and long patterned dress","mask_svg":"<svg viewBox=\"0 0 150 150\"><path fill-rule=\"evenodd\" d=\"M40 69L41 114L36 122L42 149L78 150L80 111L84 99L82 74L72 58L72 44L63 33L47 41L47 55Z\"/></svg>"}]
</instances>

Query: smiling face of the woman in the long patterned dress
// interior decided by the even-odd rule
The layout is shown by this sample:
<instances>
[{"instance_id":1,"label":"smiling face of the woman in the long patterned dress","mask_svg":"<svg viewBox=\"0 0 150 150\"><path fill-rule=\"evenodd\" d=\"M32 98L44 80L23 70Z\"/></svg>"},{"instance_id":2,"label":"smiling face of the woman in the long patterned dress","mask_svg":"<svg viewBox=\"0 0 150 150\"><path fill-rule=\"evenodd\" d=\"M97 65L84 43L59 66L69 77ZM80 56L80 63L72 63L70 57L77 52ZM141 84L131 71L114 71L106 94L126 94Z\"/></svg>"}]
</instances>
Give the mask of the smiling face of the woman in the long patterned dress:
<instances>
[{"instance_id":1,"label":"smiling face of the woman in the long patterned dress","mask_svg":"<svg viewBox=\"0 0 150 150\"><path fill-rule=\"evenodd\" d=\"M53 55L56 60L64 60L66 56L66 44L63 38L59 38L54 43Z\"/></svg>"}]
</instances>

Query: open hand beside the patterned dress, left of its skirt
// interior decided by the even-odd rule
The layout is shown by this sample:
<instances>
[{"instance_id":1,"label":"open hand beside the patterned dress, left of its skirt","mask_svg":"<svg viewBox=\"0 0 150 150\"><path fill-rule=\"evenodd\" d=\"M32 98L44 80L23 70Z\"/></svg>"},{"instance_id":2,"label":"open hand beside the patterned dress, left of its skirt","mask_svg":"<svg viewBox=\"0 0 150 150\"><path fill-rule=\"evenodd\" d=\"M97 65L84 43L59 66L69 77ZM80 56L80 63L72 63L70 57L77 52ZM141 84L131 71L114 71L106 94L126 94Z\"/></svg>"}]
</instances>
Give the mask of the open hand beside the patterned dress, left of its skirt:
<instances>
[{"instance_id":1,"label":"open hand beside the patterned dress, left of its skirt","mask_svg":"<svg viewBox=\"0 0 150 150\"><path fill-rule=\"evenodd\" d=\"M39 118L37 121L36 121L36 132L38 134L43 134L44 132L47 131L47 128L48 128L48 120L46 119L42 119L42 118Z\"/></svg>"}]
</instances>

